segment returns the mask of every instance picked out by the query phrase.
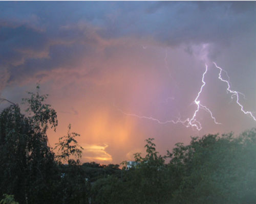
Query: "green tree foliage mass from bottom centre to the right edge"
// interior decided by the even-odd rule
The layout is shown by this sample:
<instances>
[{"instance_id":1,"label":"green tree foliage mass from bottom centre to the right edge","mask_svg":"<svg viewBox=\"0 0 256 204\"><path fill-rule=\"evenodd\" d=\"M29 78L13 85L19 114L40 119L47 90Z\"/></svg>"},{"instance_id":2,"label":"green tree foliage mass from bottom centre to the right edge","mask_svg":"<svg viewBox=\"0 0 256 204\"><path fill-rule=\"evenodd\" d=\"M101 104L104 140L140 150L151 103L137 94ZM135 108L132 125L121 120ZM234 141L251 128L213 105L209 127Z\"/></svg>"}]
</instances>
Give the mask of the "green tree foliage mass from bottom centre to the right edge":
<instances>
[{"instance_id":1,"label":"green tree foliage mass from bottom centre to the right edge","mask_svg":"<svg viewBox=\"0 0 256 204\"><path fill-rule=\"evenodd\" d=\"M255 139L255 129L192 137L162 157L149 138L138 165L92 186L93 203L255 203Z\"/></svg>"}]
</instances>

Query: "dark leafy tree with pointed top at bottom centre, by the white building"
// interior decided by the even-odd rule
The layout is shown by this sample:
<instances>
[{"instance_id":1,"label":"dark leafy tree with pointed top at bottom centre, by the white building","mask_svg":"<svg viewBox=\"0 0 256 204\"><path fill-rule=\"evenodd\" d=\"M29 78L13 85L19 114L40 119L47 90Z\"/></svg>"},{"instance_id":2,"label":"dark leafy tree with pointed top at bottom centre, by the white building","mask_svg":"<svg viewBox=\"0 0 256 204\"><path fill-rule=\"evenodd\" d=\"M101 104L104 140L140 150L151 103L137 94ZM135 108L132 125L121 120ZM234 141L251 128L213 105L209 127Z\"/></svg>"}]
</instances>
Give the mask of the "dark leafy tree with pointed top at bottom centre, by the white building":
<instances>
[{"instance_id":1,"label":"dark leafy tree with pointed top at bottom centre, by the white building","mask_svg":"<svg viewBox=\"0 0 256 204\"><path fill-rule=\"evenodd\" d=\"M93 184L93 203L161 203L167 200L164 158L158 155L153 140L145 140L145 157L141 153L134 154L136 167L123 168L121 176L115 174Z\"/></svg>"}]
</instances>

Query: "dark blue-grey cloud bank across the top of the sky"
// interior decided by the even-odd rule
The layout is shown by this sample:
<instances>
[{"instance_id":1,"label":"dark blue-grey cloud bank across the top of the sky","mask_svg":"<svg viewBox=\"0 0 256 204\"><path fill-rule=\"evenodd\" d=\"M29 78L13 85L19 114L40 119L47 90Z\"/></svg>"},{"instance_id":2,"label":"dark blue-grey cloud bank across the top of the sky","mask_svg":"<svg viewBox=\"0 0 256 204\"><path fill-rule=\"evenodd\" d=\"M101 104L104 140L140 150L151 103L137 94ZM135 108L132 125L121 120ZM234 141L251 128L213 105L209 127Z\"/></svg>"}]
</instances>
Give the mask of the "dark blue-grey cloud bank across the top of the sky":
<instances>
[{"instance_id":1,"label":"dark blue-grey cloud bank across the top of the sky","mask_svg":"<svg viewBox=\"0 0 256 204\"><path fill-rule=\"evenodd\" d=\"M1 88L71 69L111 40L212 43L255 34L255 2L1 2ZM103 52L103 51L102 51ZM106 55L106 54L105 54ZM89 58L90 58L89 57ZM45 74L41 75L41 72Z\"/></svg>"}]
</instances>

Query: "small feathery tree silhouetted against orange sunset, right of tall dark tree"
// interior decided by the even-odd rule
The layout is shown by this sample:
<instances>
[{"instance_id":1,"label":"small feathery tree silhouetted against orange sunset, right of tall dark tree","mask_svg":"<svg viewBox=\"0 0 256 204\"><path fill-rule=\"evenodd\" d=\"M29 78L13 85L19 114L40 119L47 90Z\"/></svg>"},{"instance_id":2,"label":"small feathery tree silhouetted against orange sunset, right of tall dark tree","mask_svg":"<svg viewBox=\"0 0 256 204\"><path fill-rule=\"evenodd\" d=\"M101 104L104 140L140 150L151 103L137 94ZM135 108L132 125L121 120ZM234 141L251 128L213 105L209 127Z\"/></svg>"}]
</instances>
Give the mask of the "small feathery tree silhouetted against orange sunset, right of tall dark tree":
<instances>
[{"instance_id":1,"label":"small feathery tree silhouetted against orange sunset, right of tall dark tree","mask_svg":"<svg viewBox=\"0 0 256 204\"><path fill-rule=\"evenodd\" d=\"M71 124L68 126L68 135L63 136L59 138L59 142L56 143L55 148L58 148L58 152L60 152L60 155L57 155L57 159L60 161L70 161L70 156L74 156L77 159L81 158L82 155L82 147L78 145L75 137L79 137L80 135L77 133L70 133L71 130ZM77 160L79 163L79 160Z\"/></svg>"}]
</instances>

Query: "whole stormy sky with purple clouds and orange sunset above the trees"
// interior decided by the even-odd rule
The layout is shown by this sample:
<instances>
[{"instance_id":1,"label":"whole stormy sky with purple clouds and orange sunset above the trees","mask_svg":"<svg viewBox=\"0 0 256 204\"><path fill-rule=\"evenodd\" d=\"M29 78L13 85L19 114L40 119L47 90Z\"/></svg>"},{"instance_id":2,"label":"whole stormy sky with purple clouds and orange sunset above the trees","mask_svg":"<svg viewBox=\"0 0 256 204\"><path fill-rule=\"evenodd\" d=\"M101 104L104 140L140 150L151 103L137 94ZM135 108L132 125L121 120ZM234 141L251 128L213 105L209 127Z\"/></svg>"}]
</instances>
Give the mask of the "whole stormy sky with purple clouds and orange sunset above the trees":
<instances>
[{"instance_id":1,"label":"whole stormy sky with purple clouds and orange sunset above the trees","mask_svg":"<svg viewBox=\"0 0 256 204\"><path fill-rule=\"evenodd\" d=\"M240 134L256 125L255 4L0 2L0 97L39 83L59 121L50 146L71 123L81 162Z\"/></svg>"}]
</instances>

